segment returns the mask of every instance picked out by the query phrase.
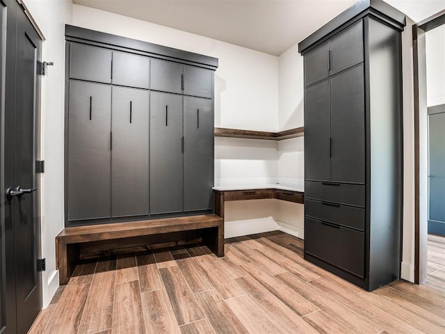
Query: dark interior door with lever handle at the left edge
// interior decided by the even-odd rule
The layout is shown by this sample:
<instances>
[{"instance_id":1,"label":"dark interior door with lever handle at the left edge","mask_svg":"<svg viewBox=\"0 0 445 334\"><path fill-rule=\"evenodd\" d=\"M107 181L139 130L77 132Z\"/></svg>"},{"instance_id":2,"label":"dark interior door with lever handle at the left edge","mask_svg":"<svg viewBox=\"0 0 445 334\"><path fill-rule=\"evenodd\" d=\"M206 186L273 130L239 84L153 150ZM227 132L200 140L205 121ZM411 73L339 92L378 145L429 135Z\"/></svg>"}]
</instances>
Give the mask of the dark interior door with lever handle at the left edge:
<instances>
[{"instance_id":1,"label":"dark interior door with lever handle at the left edge","mask_svg":"<svg viewBox=\"0 0 445 334\"><path fill-rule=\"evenodd\" d=\"M6 281L1 278L1 290L6 292L6 298L2 298L0 333L26 333L42 308L42 277L38 271L40 194L35 174L35 160L40 153L38 64L42 40L15 1L4 1L2 5L8 9L8 26L6 61L2 61L6 66L6 100L2 105L1 166L1 249L6 260L4 267L2 264ZM4 15L2 21L3 18Z\"/></svg>"}]
</instances>

